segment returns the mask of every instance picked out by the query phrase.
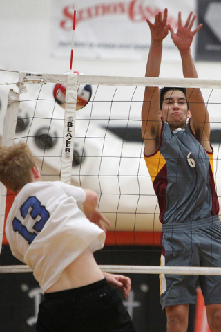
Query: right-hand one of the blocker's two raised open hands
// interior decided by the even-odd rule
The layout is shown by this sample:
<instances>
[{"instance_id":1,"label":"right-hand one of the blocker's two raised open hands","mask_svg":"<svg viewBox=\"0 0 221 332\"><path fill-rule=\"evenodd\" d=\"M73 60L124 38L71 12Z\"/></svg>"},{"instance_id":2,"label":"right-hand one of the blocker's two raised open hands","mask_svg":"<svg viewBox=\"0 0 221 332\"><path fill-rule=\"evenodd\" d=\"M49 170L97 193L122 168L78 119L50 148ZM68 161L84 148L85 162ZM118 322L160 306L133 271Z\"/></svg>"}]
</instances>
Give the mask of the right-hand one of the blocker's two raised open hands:
<instances>
[{"instance_id":1,"label":"right-hand one of the blocker's two raised open hands","mask_svg":"<svg viewBox=\"0 0 221 332\"><path fill-rule=\"evenodd\" d=\"M198 33L202 27L202 24L199 24L195 30L191 31L191 28L193 27L194 21L197 17L197 15L193 15L193 18L191 19L192 15L193 12L190 12L189 17L186 19L186 24L182 26L181 12L179 12L177 33L174 33L172 27L169 28L171 31L171 38L173 39L173 43L175 46L177 46L177 48L179 48L179 50L189 50L193 42L194 35Z\"/></svg>"}]
</instances>

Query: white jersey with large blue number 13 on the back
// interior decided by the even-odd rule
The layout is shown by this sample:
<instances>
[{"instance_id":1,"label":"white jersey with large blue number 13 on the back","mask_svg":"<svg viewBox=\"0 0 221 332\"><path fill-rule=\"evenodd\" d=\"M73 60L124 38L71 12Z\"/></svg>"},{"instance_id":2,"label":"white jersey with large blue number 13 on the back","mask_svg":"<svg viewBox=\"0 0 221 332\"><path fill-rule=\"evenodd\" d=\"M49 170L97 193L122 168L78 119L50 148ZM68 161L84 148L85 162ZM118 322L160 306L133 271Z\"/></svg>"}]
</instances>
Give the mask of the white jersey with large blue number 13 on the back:
<instances>
[{"instance_id":1,"label":"white jersey with large blue number 13 on the back","mask_svg":"<svg viewBox=\"0 0 221 332\"><path fill-rule=\"evenodd\" d=\"M15 197L6 221L12 254L26 263L45 292L86 248L103 248L104 231L78 205L84 190L60 181L33 182Z\"/></svg>"}]
</instances>

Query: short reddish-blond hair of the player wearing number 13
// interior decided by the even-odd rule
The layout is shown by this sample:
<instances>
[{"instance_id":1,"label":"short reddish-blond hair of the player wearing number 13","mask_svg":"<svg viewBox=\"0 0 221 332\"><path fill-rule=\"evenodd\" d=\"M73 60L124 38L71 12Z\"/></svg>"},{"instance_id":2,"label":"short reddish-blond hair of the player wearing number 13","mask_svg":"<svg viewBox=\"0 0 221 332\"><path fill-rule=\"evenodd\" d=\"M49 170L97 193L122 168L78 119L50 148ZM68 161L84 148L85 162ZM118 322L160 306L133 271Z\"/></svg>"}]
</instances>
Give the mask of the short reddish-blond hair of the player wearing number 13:
<instances>
[{"instance_id":1,"label":"short reddish-blond hair of the player wearing number 13","mask_svg":"<svg viewBox=\"0 0 221 332\"><path fill-rule=\"evenodd\" d=\"M12 147L0 147L0 181L12 192L32 182L35 161L28 145L19 142Z\"/></svg>"}]
</instances>

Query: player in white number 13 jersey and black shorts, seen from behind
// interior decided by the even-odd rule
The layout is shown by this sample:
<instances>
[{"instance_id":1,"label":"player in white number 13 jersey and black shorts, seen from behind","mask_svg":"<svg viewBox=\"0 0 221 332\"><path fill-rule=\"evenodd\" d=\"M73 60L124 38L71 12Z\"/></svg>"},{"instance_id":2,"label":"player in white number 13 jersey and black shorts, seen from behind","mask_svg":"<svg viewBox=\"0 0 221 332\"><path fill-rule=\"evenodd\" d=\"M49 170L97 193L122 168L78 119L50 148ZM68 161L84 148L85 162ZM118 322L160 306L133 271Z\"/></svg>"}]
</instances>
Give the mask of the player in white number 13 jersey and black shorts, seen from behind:
<instances>
[{"instance_id":1,"label":"player in white number 13 jersey and black shorts, seen from behind","mask_svg":"<svg viewBox=\"0 0 221 332\"><path fill-rule=\"evenodd\" d=\"M60 181L42 181L23 142L1 147L0 181L17 194L6 221L10 248L33 270L45 295L37 331L134 332L131 317L111 287L121 288L127 298L131 280L102 273L93 257L104 246L102 221L109 225L97 210L97 194Z\"/></svg>"}]
</instances>

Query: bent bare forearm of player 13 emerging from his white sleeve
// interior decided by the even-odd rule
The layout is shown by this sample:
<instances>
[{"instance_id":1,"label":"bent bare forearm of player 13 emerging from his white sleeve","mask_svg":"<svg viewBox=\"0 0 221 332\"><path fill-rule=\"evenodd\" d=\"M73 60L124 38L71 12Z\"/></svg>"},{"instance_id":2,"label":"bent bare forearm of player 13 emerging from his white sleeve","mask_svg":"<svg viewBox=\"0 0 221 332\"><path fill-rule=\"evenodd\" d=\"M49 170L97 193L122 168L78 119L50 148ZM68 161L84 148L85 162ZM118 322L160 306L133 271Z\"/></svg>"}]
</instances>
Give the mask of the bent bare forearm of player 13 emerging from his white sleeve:
<instances>
[{"instance_id":1,"label":"bent bare forearm of player 13 emerging from his white sleeve","mask_svg":"<svg viewBox=\"0 0 221 332\"><path fill-rule=\"evenodd\" d=\"M103 222L108 226L111 226L111 223L97 210L97 193L90 189L85 189L84 192L86 193L86 200L83 203L84 214L92 223L98 225L106 233Z\"/></svg>"}]
</instances>

